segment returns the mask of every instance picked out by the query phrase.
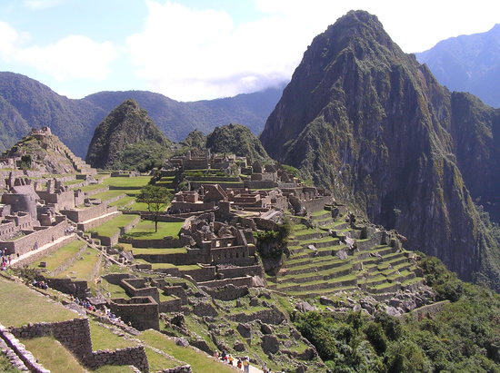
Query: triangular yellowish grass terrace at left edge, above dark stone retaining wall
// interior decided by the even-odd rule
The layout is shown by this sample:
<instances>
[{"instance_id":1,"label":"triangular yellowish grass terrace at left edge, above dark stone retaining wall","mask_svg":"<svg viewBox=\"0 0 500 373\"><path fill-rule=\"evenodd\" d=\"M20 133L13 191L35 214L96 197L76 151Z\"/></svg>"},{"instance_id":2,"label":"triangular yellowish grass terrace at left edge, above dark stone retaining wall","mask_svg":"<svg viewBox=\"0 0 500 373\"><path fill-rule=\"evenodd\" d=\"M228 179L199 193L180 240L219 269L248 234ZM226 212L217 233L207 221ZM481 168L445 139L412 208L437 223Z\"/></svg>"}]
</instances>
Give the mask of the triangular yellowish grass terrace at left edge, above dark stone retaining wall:
<instances>
[{"instance_id":1,"label":"triangular yellowish grass terrace at left edge, above dark stone retaining wall","mask_svg":"<svg viewBox=\"0 0 500 373\"><path fill-rule=\"evenodd\" d=\"M0 279L0 289L0 322L5 326L65 321L79 317L75 312L21 283Z\"/></svg>"}]
</instances>

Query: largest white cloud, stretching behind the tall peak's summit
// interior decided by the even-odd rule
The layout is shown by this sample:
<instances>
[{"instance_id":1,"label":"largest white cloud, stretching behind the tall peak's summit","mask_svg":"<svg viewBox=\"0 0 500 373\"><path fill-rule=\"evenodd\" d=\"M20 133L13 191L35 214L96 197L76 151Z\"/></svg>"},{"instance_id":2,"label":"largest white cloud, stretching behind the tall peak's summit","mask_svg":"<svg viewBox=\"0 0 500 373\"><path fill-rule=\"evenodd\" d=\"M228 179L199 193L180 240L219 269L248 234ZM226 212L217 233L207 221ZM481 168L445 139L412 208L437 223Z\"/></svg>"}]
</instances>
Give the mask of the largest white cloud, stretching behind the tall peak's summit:
<instances>
[{"instance_id":1,"label":"largest white cloud, stretching behind the tall peak's summit","mask_svg":"<svg viewBox=\"0 0 500 373\"><path fill-rule=\"evenodd\" d=\"M399 0L255 0L261 16L241 24L224 11L164 0L146 4L144 30L127 38L135 73L149 89L185 101L253 92L289 79L315 35L351 9L377 15L408 53L500 21L500 2L489 0L476 0L474 7L465 0L423 0L413 7Z\"/></svg>"}]
</instances>

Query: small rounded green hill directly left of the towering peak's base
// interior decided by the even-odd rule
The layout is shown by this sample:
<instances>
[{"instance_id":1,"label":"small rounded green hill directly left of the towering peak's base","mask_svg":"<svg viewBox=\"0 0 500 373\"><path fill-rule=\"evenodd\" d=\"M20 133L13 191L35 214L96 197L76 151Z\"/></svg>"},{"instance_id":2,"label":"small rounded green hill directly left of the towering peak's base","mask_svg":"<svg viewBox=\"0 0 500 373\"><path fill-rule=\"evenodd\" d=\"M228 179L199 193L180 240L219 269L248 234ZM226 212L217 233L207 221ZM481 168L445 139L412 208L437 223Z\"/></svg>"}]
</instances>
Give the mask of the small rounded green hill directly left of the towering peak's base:
<instances>
[{"instance_id":1,"label":"small rounded green hill directly left of the towering peak's base","mask_svg":"<svg viewBox=\"0 0 500 373\"><path fill-rule=\"evenodd\" d=\"M234 153L249 158L251 162L269 159L260 140L241 124L215 127L214 132L206 137L205 146L211 152Z\"/></svg>"}]
</instances>

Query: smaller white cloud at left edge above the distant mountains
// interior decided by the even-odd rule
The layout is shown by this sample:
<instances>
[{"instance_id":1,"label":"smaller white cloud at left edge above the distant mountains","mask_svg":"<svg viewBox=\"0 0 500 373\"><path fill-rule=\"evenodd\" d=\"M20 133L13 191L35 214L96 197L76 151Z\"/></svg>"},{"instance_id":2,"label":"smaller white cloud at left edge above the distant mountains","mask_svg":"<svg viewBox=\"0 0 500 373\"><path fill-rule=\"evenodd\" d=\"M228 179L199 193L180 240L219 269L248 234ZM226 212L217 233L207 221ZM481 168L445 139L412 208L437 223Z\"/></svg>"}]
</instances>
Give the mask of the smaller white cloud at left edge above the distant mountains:
<instances>
[{"instance_id":1,"label":"smaller white cloud at left edge above the distant mountains","mask_svg":"<svg viewBox=\"0 0 500 373\"><path fill-rule=\"evenodd\" d=\"M82 35L68 35L55 44L25 46L29 38L0 22L0 56L7 62L34 67L58 81L102 80L118 56L115 45L97 43Z\"/></svg>"}]
</instances>

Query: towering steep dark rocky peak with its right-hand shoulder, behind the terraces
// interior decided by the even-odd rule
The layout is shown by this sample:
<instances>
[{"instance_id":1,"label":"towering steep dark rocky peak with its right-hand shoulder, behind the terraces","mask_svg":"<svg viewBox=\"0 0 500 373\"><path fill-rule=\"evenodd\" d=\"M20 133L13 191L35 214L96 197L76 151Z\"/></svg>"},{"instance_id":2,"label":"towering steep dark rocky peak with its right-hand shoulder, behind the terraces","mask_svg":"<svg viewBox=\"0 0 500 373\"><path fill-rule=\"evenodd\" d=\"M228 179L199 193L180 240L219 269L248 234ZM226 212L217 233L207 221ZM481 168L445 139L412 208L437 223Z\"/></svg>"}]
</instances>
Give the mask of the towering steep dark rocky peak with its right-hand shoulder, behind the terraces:
<instances>
[{"instance_id":1,"label":"towering steep dark rocky peak with its right-hand shoulder, behind the terraces","mask_svg":"<svg viewBox=\"0 0 500 373\"><path fill-rule=\"evenodd\" d=\"M498 111L450 93L374 15L352 11L315 37L261 141L408 249L498 289L498 242L474 201L495 210L499 125Z\"/></svg>"}]
</instances>

